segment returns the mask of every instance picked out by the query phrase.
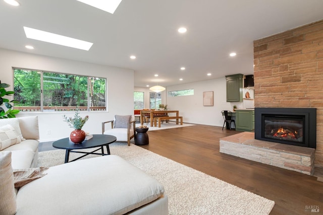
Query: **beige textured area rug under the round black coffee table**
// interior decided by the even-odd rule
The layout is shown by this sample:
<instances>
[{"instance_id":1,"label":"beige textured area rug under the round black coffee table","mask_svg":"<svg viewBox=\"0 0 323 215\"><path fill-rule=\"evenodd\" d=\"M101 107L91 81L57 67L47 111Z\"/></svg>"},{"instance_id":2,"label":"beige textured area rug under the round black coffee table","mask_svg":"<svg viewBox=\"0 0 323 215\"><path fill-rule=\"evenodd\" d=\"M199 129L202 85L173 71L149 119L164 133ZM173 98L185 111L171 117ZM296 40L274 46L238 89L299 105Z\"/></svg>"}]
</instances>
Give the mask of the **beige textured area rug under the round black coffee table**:
<instances>
[{"instance_id":1,"label":"beige textured area rug under the round black coffee table","mask_svg":"<svg viewBox=\"0 0 323 215\"><path fill-rule=\"evenodd\" d=\"M159 156L138 146L115 142L118 155L164 185L169 197L169 214L269 214L275 202L220 179ZM71 153L70 160L79 157ZM86 156L89 159L96 155ZM38 167L64 163L65 150L39 153ZM83 159L85 159L83 158ZM77 162L77 161L76 161ZM131 178L131 176L130 176Z\"/></svg>"}]
</instances>

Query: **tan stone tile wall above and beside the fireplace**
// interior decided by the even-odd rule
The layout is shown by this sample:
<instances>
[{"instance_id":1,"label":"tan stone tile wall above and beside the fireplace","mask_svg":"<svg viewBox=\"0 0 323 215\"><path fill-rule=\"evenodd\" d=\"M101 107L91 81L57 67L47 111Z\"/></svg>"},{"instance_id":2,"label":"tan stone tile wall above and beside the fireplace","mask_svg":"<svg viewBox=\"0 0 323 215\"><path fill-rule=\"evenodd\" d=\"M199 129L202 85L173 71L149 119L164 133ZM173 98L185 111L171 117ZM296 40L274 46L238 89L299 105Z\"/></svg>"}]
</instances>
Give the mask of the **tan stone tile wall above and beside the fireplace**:
<instances>
[{"instance_id":1,"label":"tan stone tile wall above and beside the fireplace","mask_svg":"<svg viewBox=\"0 0 323 215\"><path fill-rule=\"evenodd\" d=\"M317 108L315 165L323 166L323 20L254 41L254 104Z\"/></svg>"}]
</instances>

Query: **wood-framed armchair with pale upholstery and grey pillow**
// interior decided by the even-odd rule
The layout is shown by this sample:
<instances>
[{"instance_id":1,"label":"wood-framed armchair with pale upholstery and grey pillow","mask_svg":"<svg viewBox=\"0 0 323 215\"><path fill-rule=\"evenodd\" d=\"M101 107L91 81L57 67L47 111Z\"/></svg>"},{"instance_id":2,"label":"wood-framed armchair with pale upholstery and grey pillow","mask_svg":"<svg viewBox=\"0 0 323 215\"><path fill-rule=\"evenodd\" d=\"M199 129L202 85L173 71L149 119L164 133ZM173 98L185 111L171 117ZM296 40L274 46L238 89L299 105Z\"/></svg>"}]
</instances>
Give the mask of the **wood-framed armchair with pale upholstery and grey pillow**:
<instances>
[{"instance_id":1,"label":"wood-framed armchair with pale upholstery and grey pillow","mask_svg":"<svg viewBox=\"0 0 323 215\"><path fill-rule=\"evenodd\" d=\"M106 128L105 124L111 123L111 129ZM109 134L117 137L117 141L127 141L130 146L130 139L136 136L136 120L133 115L115 115L115 119L102 122L102 134Z\"/></svg>"}]
</instances>

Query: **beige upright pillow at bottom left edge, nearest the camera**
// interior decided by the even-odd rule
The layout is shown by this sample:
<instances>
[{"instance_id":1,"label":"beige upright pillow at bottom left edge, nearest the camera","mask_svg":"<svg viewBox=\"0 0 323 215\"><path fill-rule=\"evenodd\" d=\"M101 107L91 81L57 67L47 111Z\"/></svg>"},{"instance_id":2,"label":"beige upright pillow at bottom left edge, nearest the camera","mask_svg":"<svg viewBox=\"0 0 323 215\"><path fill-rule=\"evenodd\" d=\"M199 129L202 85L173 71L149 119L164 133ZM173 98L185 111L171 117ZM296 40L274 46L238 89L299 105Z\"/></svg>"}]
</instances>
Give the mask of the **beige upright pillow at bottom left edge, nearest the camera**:
<instances>
[{"instance_id":1,"label":"beige upright pillow at bottom left edge, nearest the camera","mask_svg":"<svg viewBox=\"0 0 323 215\"><path fill-rule=\"evenodd\" d=\"M15 214L17 209L11 152L0 152L0 214Z\"/></svg>"}]
</instances>

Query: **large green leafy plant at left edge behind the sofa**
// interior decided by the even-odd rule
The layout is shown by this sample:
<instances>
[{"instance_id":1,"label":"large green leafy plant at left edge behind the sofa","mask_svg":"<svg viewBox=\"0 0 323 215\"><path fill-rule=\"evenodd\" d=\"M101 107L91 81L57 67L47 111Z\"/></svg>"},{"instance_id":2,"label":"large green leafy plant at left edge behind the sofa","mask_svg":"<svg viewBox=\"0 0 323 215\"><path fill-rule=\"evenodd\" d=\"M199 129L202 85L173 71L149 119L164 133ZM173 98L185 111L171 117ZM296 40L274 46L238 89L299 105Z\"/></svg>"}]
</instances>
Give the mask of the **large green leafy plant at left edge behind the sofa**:
<instances>
[{"instance_id":1,"label":"large green leafy plant at left edge behind the sofa","mask_svg":"<svg viewBox=\"0 0 323 215\"><path fill-rule=\"evenodd\" d=\"M13 106L10 102L14 102L15 100L9 101L7 98L3 98L4 96L13 95L14 91L7 91L5 88L10 87L9 84L2 84L0 81L0 119L4 118L16 118L16 114L18 114L19 110L13 110ZM7 110L3 107L6 106Z\"/></svg>"}]
</instances>

